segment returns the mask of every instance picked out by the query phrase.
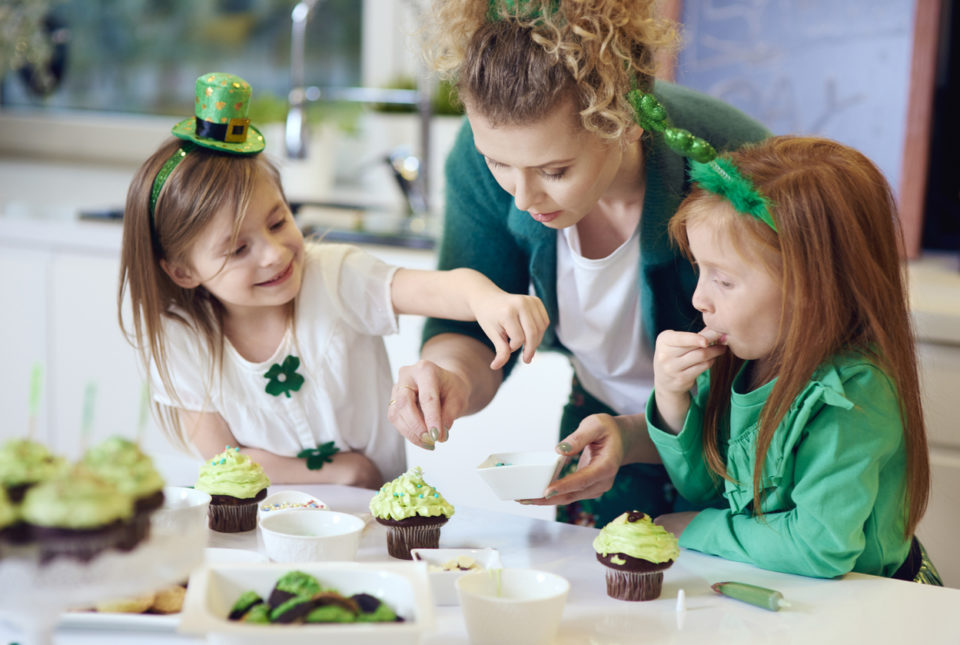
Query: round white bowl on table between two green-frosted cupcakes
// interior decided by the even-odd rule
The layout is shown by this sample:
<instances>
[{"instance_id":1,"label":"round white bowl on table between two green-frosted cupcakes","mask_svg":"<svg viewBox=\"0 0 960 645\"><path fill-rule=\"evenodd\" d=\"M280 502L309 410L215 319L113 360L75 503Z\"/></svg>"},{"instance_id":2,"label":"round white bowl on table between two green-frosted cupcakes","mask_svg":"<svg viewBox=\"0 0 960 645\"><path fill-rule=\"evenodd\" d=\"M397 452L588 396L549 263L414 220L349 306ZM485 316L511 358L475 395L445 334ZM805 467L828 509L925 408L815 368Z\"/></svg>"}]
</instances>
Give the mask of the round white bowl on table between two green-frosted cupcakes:
<instances>
[{"instance_id":1,"label":"round white bowl on table between two green-frosted cupcakes","mask_svg":"<svg viewBox=\"0 0 960 645\"><path fill-rule=\"evenodd\" d=\"M274 562L353 560L365 523L337 511L293 510L260 520L267 555Z\"/></svg>"}]
</instances>

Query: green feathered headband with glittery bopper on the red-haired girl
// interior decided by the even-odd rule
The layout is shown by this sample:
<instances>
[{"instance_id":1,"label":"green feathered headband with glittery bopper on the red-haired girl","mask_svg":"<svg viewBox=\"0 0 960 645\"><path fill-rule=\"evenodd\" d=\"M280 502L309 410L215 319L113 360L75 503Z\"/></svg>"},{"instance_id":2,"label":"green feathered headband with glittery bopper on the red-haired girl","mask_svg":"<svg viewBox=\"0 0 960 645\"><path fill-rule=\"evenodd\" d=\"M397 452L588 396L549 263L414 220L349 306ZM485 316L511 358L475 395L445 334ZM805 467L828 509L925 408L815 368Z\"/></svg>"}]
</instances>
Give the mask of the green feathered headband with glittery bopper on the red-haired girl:
<instances>
[{"instance_id":1,"label":"green feathered headband with glittery bopper on the red-haired girl","mask_svg":"<svg viewBox=\"0 0 960 645\"><path fill-rule=\"evenodd\" d=\"M777 226L770 214L770 200L740 174L732 161L717 156L717 151L704 139L670 125L667 111L653 94L633 89L627 93L627 100L633 106L637 125L644 130L663 133L671 150L690 159L690 179L693 182L726 199L738 213L752 215L776 232Z\"/></svg>"}]
</instances>

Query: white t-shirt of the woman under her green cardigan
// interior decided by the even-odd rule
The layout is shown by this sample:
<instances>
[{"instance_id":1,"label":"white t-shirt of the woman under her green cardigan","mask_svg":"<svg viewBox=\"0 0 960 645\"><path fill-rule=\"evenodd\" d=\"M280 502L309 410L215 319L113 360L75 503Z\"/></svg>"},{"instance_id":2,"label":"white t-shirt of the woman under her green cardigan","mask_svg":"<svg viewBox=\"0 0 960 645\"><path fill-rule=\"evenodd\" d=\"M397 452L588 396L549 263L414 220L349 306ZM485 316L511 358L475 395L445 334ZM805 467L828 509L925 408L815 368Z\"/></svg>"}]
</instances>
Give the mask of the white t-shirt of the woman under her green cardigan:
<instances>
[{"instance_id":1,"label":"white t-shirt of the woman under her green cardigan","mask_svg":"<svg viewBox=\"0 0 960 645\"><path fill-rule=\"evenodd\" d=\"M639 231L639 229L638 229ZM653 390L637 267L638 232L605 258L585 258L576 226L557 235L557 337L580 384L619 414L642 414Z\"/></svg>"}]
</instances>

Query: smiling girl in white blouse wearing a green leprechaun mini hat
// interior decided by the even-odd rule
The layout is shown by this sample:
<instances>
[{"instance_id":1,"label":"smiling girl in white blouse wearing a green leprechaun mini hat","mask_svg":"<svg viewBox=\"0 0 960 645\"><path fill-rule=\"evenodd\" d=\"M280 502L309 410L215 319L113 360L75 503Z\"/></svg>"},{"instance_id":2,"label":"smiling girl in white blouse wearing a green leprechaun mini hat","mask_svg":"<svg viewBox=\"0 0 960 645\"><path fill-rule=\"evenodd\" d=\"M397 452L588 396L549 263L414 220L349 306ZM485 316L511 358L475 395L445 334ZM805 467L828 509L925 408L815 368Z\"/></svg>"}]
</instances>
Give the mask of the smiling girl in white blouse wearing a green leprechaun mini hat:
<instances>
[{"instance_id":1,"label":"smiling girl in white blouse wearing a green leprechaun mini hat","mask_svg":"<svg viewBox=\"0 0 960 645\"><path fill-rule=\"evenodd\" d=\"M136 173L120 324L175 443L204 459L239 446L274 483L378 488L405 470L387 412L406 399L391 395L382 338L397 315L477 321L497 369L521 347L532 359L546 312L470 269L403 269L304 241L250 95L230 74L198 78L194 116Z\"/></svg>"}]
</instances>

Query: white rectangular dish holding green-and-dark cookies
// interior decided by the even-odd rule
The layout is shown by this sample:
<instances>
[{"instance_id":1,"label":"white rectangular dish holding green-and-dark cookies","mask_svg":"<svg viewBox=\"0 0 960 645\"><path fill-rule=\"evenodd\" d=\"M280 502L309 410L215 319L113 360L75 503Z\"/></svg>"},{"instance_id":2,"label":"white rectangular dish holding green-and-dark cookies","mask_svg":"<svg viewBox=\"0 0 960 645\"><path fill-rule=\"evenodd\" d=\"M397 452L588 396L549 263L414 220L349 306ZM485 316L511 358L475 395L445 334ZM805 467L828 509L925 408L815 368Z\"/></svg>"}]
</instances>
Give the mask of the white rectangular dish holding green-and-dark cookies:
<instances>
[{"instance_id":1,"label":"white rectangular dish holding green-and-dark cookies","mask_svg":"<svg viewBox=\"0 0 960 645\"><path fill-rule=\"evenodd\" d=\"M240 594L253 590L266 598L277 580L294 569L345 595L374 595L404 622L253 625L227 620ZM220 564L198 569L190 577L179 631L206 635L206 642L215 645L414 645L433 629L433 620L426 566L420 562Z\"/></svg>"}]
</instances>

